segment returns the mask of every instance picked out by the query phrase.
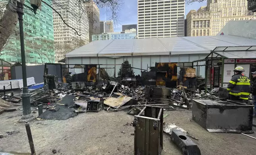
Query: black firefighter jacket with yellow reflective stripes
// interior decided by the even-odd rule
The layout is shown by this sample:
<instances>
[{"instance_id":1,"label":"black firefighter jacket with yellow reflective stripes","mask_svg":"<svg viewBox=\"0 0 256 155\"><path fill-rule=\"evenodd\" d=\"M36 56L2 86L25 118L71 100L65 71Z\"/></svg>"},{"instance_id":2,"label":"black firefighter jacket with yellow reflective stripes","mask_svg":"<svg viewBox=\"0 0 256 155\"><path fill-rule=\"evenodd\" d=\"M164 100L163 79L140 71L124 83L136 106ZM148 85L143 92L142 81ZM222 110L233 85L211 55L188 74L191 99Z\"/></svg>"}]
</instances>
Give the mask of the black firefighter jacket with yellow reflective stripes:
<instances>
[{"instance_id":1,"label":"black firefighter jacket with yellow reflective stripes","mask_svg":"<svg viewBox=\"0 0 256 155\"><path fill-rule=\"evenodd\" d=\"M248 100L250 95L250 79L242 74L233 75L227 86L230 95L239 96L242 100Z\"/></svg>"}]
</instances>

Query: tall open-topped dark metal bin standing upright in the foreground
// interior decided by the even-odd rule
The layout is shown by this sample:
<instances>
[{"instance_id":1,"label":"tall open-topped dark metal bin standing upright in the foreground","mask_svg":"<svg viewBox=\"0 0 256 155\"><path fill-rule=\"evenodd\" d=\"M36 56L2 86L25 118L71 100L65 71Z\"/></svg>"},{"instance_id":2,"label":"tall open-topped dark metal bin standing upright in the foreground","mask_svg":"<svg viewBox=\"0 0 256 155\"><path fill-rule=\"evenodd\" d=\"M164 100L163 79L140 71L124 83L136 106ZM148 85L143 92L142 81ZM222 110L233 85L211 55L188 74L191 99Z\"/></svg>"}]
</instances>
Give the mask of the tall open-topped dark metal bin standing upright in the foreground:
<instances>
[{"instance_id":1,"label":"tall open-topped dark metal bin standing upright in the foreground","mask_svg":"<svg viewBox=\"0 0 256 155\"><path fill-rule=\"evenodd\" d=\"M142 114L144 113L144 116ZM161 155L163 149L163 108L145 106L134 116L134 155Z\"/></svg>"}]
</instances>

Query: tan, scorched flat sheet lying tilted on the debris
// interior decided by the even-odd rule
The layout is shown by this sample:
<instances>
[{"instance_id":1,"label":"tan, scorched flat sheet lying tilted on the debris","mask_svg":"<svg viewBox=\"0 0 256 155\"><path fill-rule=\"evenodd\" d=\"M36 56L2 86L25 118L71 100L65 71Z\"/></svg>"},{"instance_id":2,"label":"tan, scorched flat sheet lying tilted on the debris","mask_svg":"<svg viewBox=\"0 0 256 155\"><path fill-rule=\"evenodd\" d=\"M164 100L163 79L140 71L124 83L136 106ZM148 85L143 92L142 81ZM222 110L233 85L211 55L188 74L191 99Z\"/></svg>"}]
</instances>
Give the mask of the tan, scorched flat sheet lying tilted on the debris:
<instances>
[{"instance_id":1,"label":"tan, scorched flat sheet lying tilted on the debris","mask_svg":"<svg viewBox=\"0 0 256 155\"><path fill-rule=\"evenodd\" d=\"M119 96L118 98L109 97L106 100L104 100L104 104L117 109L120 106L129 102L131 99L132 97L129 97L129 96Z\"/></svg>"}]
</instances>

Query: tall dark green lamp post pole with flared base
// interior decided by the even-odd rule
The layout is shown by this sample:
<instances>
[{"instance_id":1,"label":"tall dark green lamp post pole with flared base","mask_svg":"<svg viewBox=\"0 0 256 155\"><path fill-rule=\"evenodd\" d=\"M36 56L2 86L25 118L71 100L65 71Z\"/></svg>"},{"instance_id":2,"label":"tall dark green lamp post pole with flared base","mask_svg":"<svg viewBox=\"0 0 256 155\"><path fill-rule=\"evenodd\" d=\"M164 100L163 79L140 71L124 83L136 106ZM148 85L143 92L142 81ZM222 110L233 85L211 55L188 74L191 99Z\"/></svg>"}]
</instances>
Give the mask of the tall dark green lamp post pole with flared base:
<instances>
[{"instance_id":1,"label":"tall dark green lamp post pole with flared base","mask_svg":"<svg viewBox=\"0 0 256 155\"><path fill-rule=\"evenodd\" d=\"M23 4L17 2L17 14L19 19L19 35L20 35L20 49L21 49L21 67L22 67L22 81L23 81L23 93L22 106L23 106L23 115L19 122L31 121L35 119L31 113L30 109L30 94L27 88L27 72L26 72L26 57L25 57L25 47L24 47L24 34L23 34Z\"/></svg>"}]
</instances>

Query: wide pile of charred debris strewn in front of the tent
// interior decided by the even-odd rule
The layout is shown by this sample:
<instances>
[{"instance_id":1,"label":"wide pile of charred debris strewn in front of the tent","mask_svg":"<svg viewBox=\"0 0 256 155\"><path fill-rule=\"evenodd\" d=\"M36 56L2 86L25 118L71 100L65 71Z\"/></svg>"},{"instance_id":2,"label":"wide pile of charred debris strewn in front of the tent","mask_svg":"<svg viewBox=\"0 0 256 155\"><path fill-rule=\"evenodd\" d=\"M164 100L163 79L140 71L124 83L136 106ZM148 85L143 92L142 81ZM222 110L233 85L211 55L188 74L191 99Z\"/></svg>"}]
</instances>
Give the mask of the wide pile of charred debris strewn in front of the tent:
<instances>
[{"instance_id":1,"label":"wide pile of charred debris strewn in front of the tent","mask_svg":"<svg viewBox=\"0 0 256 155\"><path fill-rule=\"evenodd\" d=\"M50 86L52 82L48 85L54 89L35 90L31 95L31 104L46 109L39 113L39 119L64 120L80 112L124 109L129 109L128 114L136 115L145 105L162 106L165 110L190 109L192 98L217 98L215 93L191 91L181 85L174 89L159 85L129 87L107 80L100 85L92 81L58 83L56 80L54 86Z\"/></svg>"}]
</instances>

